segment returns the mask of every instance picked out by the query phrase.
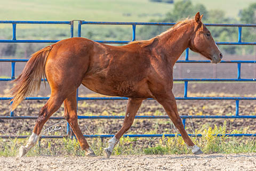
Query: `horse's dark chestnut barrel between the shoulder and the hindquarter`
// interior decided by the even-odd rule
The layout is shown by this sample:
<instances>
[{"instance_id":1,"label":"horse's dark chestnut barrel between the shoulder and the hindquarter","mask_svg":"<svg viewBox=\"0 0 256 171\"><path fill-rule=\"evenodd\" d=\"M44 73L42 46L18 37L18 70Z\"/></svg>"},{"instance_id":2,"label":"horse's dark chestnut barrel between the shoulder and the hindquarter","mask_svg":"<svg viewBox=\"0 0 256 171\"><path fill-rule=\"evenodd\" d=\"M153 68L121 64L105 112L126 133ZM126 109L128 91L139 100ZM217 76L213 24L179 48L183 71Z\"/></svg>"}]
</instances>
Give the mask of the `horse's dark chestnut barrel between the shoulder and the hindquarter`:
<instances>
[{"instance_id":1,"label":"horse's dark chestnut barrel between the shoulder and the hindquarter","mask_svg":"<svg viewBox=\"0 0 256 171\"><path fill-rule=\"evenodd\" d=\"M95 44L89 70L83 78L87 88L109 96L148 98L150 59L137 45Z\"/></svg>"}]
</instances>

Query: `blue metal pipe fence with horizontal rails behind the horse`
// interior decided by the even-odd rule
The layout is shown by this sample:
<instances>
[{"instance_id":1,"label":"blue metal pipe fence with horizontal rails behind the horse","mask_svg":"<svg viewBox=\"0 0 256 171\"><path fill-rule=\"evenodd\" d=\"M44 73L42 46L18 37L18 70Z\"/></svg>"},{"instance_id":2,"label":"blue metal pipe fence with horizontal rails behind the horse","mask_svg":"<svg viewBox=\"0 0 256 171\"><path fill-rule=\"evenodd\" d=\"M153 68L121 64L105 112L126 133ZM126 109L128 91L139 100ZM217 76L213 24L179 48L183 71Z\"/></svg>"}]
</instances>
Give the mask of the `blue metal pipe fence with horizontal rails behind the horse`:
<instances>
[{"instance_id":1,"label":"blue metal pipe fence with horizontal rails behind the horse","mask_svg":"<svg viewBox=\"0 0 256 171\"><path fill-rule=\"evenodd\" d=\"M57 42L59 40L17 40L16 39L16 25L17 24L69 24L70 25L70 37L74 36L74 21L0 21L0 24L12 24L13 27L13 37L12 40L0 40L0 42L33 42L33 43L42 43L42 42ZM132 40L135 40L135 31L136 25L174 25L175 23L156 23L156 22L92 22L92 21L82 21L78 20L78 33L77 37L81 37L82 25L83 24L105 24L105 25L131 25L132 26ZM256 24L205 24L209 27L237 27L238 28L238 40L237 42L217 42L217 45L256 45L256 42L242 42L242 28L243 27L256 27ZM97 41L107 44L127 44L130 41ZM0 59L0 62L10 62L11 63L11 78L0 78L0 81L11 81L15 79L15 63L17 62L27 62L28 59ZM186 57L183 61L177 61L177 63L210 63L210 61L192 61L189 60L189 49L186 49ZM255 82L256 79L243 79L241 78L241 64L242 63L254 63L256 61L221 61L221 63L234 63L237 64L237 78L231 79L174 79L174 81L184 82L184 95L183 97L177 97L176 100L234 100L236 102L236 111L233 116L181 116L183 125L186 125L186 119L188 118L256 118L256 116L241 116L239 115L239 100L256 100L256 97L188 97L188 82L189 81L250 81ZM0 100L10 100L11 98L0 97ZM26 100L47 100L48 97L28 97ZM77 93L77 101L81 100L127 100L124 97L98 97L98 98L87 98L79 97ZM153 100L153 99L148 99ZM124 116L79 116L78 119L122 119ZM135 118L148 118L148 119L157 119L157 118L169 118L168 116L136 116ZM0 116L0 119L37 119L35 116L14 116L13 111L10 113L10 116ZM51 117L50 119L64 119L63 117ZM41 138L63 138L70 134L69 125L67 126L67 134L63 136L41 136ZM180 135L180 134L178 134ZM189 134L190 136L202 136L202 134ZM114 135L84 135L87 138L108 138ZM163 134L129 134L124 135L129 137L162 137ZM175 136L175 134L165 134L165 136ZM217 136L256 136L256 134L218 134ZM27 136L0 136L0 138L27 138Z\"/></svg>"}]
</instances>

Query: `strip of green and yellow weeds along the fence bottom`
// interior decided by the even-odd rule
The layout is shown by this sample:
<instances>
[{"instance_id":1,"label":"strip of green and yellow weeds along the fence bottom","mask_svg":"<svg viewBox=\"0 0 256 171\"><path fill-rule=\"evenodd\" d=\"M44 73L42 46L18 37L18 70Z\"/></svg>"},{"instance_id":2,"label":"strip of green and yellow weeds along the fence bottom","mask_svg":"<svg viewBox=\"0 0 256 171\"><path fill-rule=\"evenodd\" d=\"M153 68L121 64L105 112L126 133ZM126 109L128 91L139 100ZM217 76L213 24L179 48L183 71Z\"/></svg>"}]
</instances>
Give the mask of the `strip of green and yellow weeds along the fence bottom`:
<instances>
[{"instance_id":1,"label":"strip of green and yellow weeds along the fence bottom","mask_svg":"<svg viewBox=\"0 0 256 171\"><path fill-rule=\"evenodd\" d=\"M233 130L234 133L244 133L248 127L242 130ZM156 133L157 130L148 133ZM203 130L194 130L195 134L202 134L201 138L191 137L192 141L201 147L204 153L241 153L256 152L255 138L248 137L227 137L218 136L218 134L227 133L226 122L222 126L214 125L212 127L203 127ZM23 134L29 134L27 132ZM108 146L107 139L93 138L87 139L91 148L97 156L103 155L103 149ZM28 139L0 139L0 156L16 156L21 144ZM113 150L113 155L164 155L164 154L187 154L191 151L187 148L185 142L177 134L174 137L162 138L130 138L122 137ZM65 155L65 156L85 156L85 151L81 149L78 141L74 139L63 138L59 140L41 140L41 148L33 147L27 153L27 156L39 155Z\"/></svg>"}]
</instances>

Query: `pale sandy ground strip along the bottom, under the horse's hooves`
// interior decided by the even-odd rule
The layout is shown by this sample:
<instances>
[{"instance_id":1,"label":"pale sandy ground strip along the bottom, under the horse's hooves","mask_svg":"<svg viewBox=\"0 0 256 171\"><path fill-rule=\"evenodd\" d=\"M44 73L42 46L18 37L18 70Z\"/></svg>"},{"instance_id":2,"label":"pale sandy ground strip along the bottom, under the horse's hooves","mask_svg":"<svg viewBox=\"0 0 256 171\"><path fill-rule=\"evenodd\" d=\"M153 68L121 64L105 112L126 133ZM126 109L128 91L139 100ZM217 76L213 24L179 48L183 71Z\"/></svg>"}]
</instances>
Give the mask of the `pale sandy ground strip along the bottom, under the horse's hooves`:
<instances>
[{"instance_id":1,"label":"pale sandy ground strip along the bottom, under the horse's hooves","mask_svg":"<svg viewBox=\"0 0 256 171\"><path fill-rule=\"evenodd\" d=\"M104 157L0 157L1 170L256 170L256 153Z\"/></svg>"}]
</instances>

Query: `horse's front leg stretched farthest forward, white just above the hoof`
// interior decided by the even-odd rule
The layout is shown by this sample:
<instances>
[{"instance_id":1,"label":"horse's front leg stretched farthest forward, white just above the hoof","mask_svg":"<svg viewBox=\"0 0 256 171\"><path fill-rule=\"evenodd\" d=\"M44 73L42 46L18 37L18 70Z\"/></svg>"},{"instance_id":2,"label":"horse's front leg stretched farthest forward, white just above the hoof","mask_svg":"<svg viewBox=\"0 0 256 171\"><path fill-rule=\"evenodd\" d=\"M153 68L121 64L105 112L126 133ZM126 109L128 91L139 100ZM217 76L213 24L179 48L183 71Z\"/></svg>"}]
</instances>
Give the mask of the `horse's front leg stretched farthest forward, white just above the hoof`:
<instances>
[{"instance_id":1,"label":"horse's front leg stretched farthest forward, white just above the hoof","mask_svg":"<svg viewBox=\"0 0 256 171\"><path fill-rule=\"evenodd\" d=\"M156 97L156 100L159 102L159 104L161 104L164 107L167 115L170 117L175 127L177 127L177 129L180 131L180 134L183 140L187 144L187 147L190 148L195 155L199 155L203 153L200 150L200 148L197 147L191 141L186 130L184 129L184 126L182 124L181 118L178 113L177 104L176 104L176 100L173 93L172 92L162 93L160 96L155 96L155 97Z\"/></svg>"}]
</instances>

